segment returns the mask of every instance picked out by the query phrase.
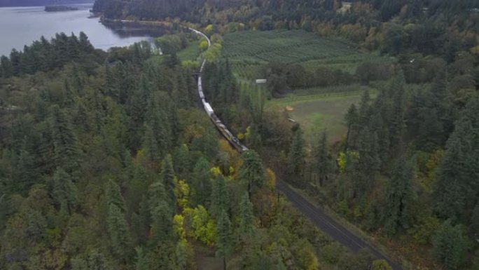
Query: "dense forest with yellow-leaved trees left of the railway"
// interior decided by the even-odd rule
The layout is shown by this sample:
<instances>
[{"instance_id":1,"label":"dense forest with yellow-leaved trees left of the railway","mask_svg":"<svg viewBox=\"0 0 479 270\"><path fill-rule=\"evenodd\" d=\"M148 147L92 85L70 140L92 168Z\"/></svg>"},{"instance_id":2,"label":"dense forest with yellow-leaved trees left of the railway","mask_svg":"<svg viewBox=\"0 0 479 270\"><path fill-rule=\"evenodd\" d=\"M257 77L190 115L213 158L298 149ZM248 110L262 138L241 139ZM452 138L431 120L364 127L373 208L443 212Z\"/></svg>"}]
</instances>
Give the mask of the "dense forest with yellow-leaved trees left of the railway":
<instances>
[{"instance_id":1,"label":"dense forest with yellow-leaved trees left of the railway","mask_svg":"<svg viewBox=\"0 0 479 270\"><path fill-rule=\"evenodd\" d=\"M195 41L179 36L157 43ZM255 151L220 139L197 108L197 69L146 42L95 50L83 33L2 58L1 269L387 265L315 229ZM228 63L207 69L225 79L211 89L240 87Z\"/></svg>"}]
</instances>

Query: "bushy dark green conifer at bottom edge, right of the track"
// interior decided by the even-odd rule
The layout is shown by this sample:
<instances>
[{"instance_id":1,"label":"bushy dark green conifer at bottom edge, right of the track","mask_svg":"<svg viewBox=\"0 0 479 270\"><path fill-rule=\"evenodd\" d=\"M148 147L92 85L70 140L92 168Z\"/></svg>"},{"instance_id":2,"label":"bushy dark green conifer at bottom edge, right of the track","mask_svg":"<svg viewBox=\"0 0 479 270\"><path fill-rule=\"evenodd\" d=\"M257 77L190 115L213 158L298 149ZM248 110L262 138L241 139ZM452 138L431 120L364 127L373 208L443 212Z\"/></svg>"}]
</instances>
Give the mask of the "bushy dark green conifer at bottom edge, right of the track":
<instances>
[{"instance_id":1,"label":"bushy dark green conifer at bottom edge, right of the track","mask_svg":"<svg viewBox=\"0 0 479 270\"><path fill-rule=\"evenodd\" d=\"M433 252L446 270L457 270L464 262L466 241L459 225L452 226L447 220L433 236Z\"/></svg>"}]
</instances>

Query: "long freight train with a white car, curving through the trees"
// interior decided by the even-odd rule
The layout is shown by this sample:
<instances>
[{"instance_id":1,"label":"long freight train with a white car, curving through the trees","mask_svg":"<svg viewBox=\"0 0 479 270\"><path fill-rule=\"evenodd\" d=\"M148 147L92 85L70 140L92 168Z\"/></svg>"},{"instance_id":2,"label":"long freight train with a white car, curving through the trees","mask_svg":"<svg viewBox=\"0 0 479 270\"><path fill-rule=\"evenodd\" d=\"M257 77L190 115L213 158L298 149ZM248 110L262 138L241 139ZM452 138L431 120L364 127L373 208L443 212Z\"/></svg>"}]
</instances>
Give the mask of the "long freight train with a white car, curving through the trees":
<instances>
[{"instance_id":1,"label":"long freight train with a white car, curving through the trees","mask_svg":"<svg viewBox=\"0 0 479 270\"><path fill-rule=\"evenodd\" d=\"M199 31L197 31L193 28L189 28L189 29L191 31L195 32L196 34L199 34L199 35L203 36L205 39L207 39L208 46L211 46L211 42L209 41L208 37L205 34L203 34L202 32L199 32ZM216 126L216 128L218 128L221 135L223 135L223 137L225 137L225 139L228 140L228 142L230 142L232 147L235 147L235 149L237 151L239 151L240 153L244 153L244 152L249 150L248 147L246 147L244 144L242 144L240 142L240 140L238 140L237 137L232 135L230 130L228 130L228 128L221 122L221 120L218 118L218 116L216 116L216 114L214 114L213 107L211 107L211 104L209 104L206 100L206 97L204 97L203 84L202 84L202 72L203 72L205 62L206 62L206 60L202 61L201 67L200 67L200 72L197 74L198 95L200 95L200 100L203 104L204 111L207 112L207 114L209 116L209 119L211 119L211 122L213 122L214 126Z\"/></svg>"}]
</instances>

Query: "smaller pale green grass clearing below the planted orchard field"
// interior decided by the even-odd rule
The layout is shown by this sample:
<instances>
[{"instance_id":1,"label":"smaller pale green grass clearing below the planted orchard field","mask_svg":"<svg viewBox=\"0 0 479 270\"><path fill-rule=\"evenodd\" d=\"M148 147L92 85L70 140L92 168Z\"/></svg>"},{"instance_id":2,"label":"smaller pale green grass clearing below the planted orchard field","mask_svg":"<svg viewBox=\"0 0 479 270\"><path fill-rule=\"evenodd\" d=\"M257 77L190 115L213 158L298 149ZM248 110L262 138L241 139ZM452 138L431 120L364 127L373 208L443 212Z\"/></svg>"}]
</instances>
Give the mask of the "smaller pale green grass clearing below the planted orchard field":
<instances>
[{"instance_id":1,"label":"smaller pale green grass clearing below the planted orchard field","mask_svg":"<svg viewBox=\"0 0 479 270\"><path fill-rule=\"evenodd\" d=\"M270 100L266 109L284 112L286 107L292 107L293 111L288 112L289 118L300 123L305 141L309 144L315 144L324 129L329 142L337 142L347 131L343 120L347 108L353 103L357 104L362 93L362 90L356 90L321 95L291 95ZM370 93L375 95L373 89L370 89Z\"/></svg>"}]
</instances>

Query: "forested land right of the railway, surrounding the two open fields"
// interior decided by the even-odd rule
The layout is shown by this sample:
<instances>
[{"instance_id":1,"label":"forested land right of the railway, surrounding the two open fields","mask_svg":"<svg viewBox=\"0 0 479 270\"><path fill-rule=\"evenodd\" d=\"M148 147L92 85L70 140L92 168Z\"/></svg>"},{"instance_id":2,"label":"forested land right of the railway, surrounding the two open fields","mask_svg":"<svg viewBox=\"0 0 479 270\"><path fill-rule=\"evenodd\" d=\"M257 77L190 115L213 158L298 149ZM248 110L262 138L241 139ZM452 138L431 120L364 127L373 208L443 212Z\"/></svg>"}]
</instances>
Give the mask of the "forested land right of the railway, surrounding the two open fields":
<instances>
[{"instance_id":1,"label":"forested land right of the railway, surrounding the two open fields","mask_svg":"<svg viewBox=\"0 0 479 270\"><path fill-rule=\"evenodd\" d=\"M215 78L225 77L221 70L231 69L225 62L216 73L208 69L218 76L206 76L206 91L223 121L280 177L421 269L450 270L479 263L478 8L477 1L445 0L197 1L190 6L98 0L95 5L109 18L179 18L203 25L209 34L303 29L394 56L392 65L363 62L354 74L321 66L308 72L294 62L252 69L254 78L268 77L269 93L249 83L218 84ZM377 90L349 107L347 133L333 146L326 133L307 144L301 126L263 109L267 97L285 88L321 86L324 77L332 86L361 83ZM214 88L218 85L224 89Z\"/></svg>"}]
</instances>

